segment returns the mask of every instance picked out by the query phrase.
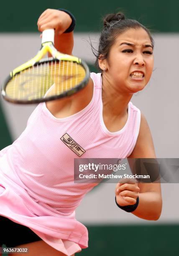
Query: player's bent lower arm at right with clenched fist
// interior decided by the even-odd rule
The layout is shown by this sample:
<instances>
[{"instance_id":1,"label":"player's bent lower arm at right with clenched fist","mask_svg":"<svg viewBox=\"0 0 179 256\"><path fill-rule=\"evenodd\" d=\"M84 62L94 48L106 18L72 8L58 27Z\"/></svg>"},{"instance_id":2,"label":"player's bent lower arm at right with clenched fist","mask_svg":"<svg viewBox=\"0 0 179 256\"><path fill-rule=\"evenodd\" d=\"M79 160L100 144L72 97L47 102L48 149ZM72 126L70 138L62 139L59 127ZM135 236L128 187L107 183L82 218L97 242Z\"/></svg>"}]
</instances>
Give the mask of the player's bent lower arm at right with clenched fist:
<instances>
[{"instance_id":1,"label":"player's bent lower arm at right with clenched fist","mask_svg":"<svg viewBox=\"0 0 179 256\"><path fill-rule=\"evenodd\" d=\"M143 115L136 146L130 158L156 158L151 132ZM120 206L134 205L139 197L136 210L131 212L139 218L158 220L161 215L162 198L159 183L118 184L115 195Z\"/></svg>"}]
</instances>

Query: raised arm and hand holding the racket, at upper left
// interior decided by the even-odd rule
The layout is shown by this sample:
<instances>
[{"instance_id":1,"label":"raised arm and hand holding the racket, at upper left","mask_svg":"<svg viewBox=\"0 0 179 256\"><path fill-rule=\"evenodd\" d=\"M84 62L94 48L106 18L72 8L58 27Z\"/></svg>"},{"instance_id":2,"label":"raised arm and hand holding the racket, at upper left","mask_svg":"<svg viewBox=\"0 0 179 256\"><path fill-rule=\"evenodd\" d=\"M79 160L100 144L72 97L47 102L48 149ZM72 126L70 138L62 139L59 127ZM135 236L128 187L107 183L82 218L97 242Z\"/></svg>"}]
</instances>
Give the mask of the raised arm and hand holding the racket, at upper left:
<instances>
[{"instance_id":1,"label":"raised arm and hand holding the racket, at upper left","mask_svg":"<svg viewBox=\"0 0 179 256\"><path fill-rule=\"evenodd\" d=\"M38 18L38 30L42 32L48 28L55 29L54 46L64 53L72 55L74 39L73 31L64 33L72 23L70 15L62 10L47 9Z\"/></svg>"}]
</instances>

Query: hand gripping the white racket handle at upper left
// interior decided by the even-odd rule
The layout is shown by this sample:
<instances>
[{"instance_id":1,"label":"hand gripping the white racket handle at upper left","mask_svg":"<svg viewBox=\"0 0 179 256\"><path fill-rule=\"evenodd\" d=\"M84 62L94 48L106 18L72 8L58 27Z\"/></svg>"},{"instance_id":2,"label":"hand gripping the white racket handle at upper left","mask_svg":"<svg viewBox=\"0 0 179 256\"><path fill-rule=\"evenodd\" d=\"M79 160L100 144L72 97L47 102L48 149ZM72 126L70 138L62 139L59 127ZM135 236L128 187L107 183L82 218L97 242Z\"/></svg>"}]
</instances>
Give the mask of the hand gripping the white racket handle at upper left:
<instances>
[{"instance_id":1,"label":"hand gripping the white racket handle at upper left","mask_svg":"<svg viewBox=\"0 0 179 256\"><path fill-rule=\"evenodd\" d=\"M72 18L68 13L60 10L47 9L38 18L37 26L40 32L45 29L54 28L55 33L61 35L69 28Z\"/></svg>"}]
</instances>

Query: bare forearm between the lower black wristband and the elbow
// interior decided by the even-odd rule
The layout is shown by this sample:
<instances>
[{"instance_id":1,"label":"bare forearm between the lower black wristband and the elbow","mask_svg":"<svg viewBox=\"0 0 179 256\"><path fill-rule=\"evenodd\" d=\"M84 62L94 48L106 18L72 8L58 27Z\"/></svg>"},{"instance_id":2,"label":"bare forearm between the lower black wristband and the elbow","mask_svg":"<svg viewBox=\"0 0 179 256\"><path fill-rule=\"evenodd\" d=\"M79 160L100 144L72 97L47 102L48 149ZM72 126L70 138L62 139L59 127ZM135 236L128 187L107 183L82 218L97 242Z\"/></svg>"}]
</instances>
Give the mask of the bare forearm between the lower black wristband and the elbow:
<instances>
[{"instance_id":1,"label":"bare forearm between the lower black wristband and the elbow","mask_svg":"<svg viewBox=\"0 0 179 256\"><path fill-rule=\"evenodd\" d=\"M143 192L139 193L138 207L131 213L145 220L158 220L161 207L162 199L158 192Z\"/></svg>"}]
</instances>

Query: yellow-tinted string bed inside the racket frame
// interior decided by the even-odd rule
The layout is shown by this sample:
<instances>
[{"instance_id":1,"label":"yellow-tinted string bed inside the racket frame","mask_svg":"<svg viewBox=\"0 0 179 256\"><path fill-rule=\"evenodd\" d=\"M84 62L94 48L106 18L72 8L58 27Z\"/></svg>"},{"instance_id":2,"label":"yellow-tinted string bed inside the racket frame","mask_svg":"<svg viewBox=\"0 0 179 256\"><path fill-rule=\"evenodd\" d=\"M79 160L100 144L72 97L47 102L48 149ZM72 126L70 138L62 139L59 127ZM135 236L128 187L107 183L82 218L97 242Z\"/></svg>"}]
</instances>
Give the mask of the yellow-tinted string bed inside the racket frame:
<instances>
[{"instance_id":1,"label":"yellow-tinted string bed inside the racket frame","mask_svg":"<svg viewBox=\"0 0 179 256\"><path fill-rule=\"evenodd\" d=\"M72 61L39 63L16 74L8 82L6 94L15 100L32 100L60 95L75 88L83 81L85 74L85 69Z\"/></svg>"}]
</instances>

